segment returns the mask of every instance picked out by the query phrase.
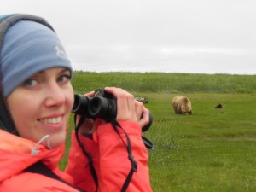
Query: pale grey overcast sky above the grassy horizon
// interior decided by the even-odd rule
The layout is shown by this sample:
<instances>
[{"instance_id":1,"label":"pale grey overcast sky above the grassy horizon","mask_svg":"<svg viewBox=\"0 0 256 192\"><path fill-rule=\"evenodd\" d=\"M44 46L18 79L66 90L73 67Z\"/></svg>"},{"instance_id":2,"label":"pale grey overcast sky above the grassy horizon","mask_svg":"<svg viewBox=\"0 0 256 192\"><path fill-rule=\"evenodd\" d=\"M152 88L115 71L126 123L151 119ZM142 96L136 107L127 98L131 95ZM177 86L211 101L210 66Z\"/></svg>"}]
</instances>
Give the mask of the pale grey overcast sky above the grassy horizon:
<instances>
[{"instance_id":1,"label":"pale grey overcast sky above the grassy horizon","mask_svg":"<svg viewBox=\"0 0 256 192\"><path fill-rule=\"evenodd\" d=\"M256 74L255 0L1 0L44 17L75 70Z\"/></svg>"}]
</instances>

